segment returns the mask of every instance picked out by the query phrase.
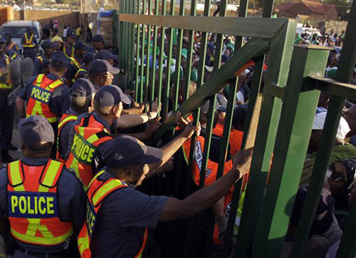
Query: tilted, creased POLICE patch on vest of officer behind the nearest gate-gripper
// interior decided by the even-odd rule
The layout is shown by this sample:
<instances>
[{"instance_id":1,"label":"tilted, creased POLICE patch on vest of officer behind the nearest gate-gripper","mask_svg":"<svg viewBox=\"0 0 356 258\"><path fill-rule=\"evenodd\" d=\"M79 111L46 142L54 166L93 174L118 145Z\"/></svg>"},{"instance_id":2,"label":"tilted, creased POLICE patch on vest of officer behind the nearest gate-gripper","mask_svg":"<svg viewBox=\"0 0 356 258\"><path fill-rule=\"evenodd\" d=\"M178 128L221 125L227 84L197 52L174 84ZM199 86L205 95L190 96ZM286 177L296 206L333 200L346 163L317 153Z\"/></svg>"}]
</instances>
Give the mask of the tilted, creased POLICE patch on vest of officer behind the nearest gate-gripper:
<instances>
[{"instance_id":1,"label":"tilted, creased POLICE patch on vest of officer behind the nearest gate-gripper","mask_svg":"<svg viewBox=\"0 0 356 258\"><path fill-rule=\"evenodd\" d=\"M95 153L95 146L90 144L88 140L85 140L83 137L75 133L73 138L72 148L70 148L70 152L73 153L74 157L84 164L90 165L94 153Z\"/></svg>"}]
</instances>

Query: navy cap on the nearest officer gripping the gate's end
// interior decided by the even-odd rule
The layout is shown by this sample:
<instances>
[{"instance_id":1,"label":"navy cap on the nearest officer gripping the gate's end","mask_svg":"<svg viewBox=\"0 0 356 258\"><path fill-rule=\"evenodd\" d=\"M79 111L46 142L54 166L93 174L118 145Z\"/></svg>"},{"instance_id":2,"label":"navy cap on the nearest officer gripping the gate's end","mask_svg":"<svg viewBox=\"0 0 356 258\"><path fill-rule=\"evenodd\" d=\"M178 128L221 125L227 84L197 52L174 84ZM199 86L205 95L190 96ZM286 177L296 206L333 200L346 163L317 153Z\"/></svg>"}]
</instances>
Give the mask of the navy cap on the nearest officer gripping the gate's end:
<instances>
[{"instance_id":1,"label":"navy cap on the nearest officer gripping the gate's end","mask_svg":"<svg viewBox=\"0 0 356 258\"><path fill-rule=\"evenodd\" d=\"M104 153L105 165L122 168L134 164L155 164L163 158L163 151L146 146L140 140L122 135L110 140Z\"/></svg>"}]
</instances>

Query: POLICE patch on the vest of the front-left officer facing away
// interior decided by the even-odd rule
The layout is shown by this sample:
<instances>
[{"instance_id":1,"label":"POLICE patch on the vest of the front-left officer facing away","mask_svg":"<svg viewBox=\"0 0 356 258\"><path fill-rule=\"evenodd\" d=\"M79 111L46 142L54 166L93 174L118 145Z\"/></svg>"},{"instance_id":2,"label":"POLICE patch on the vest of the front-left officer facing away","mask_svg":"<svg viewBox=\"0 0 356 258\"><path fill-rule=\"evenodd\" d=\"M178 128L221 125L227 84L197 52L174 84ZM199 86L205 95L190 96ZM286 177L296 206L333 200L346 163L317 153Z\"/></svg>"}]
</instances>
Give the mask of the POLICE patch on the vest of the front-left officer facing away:
<instances>
[{"instance_id":1,"label":"POLICE patch on the vest of the front-left officer facing away","mask_svg":"<svg viewBox=\"0 0 356 258\"><path fill-rule=\"evenodd\" d=\"M9 192L9 217L58 217L56 192Z\"/></svg>"}]
</instances>

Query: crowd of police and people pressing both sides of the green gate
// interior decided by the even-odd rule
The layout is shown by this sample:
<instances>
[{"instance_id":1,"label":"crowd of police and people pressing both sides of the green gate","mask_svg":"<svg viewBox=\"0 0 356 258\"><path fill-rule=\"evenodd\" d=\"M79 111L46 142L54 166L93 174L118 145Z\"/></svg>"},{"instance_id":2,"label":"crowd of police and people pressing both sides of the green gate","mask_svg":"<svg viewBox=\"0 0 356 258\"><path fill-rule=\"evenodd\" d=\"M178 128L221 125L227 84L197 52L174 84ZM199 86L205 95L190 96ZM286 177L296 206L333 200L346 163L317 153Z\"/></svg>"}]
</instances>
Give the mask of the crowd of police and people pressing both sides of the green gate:
<instances>
[{"instance_id":1,"label":"crowd of police and people pressing both sides of the green gate","mask_svg":"<svg viewBox=\"0 0 356 258\"><path fill-rule=\"evenodd\" d=\"M251 165L253 150L241 150L241 144L254 63L249 63L239 74L229 155L224 165L224 176L216 180L229 84L216 97L211 148L206 171L201 173L209 103L201 106L199 123L193 123L192 116L183 118L178 114L174 138L163 137L155 142L152 135L161 124L161 103L158 100L150 105L135 103L135 92L127 88L125 73L118 67L117 56L107 50L112 46L103 36L93 36L88 44L80 41L80 30L73 31L67 27L65 34L58 36L58 28L53 24L43 29L41 42L36 41L31 29L23 35L21 58L33 61L33 77L23 82L14 105L7 101L12 90L11 80L7 78L0 82L1 162L7 163L0 169L0 234L5 241L6 254L10 257L141 257L147 244L147 228L155 229L158 222L191 217L212 207L216 222L214 250L219 255L234 183L248 175ZM169 82L167 117L176 96L180 105L186 96L197 91L201 33L193 35L192 67L187 67L188 31L183 33L180 57L177 57L177 40L173 40L172 56L175 58L171 61L167 60L169 33L162 35L159 31L160 37L164 37L163 53L159 53L160 48L157 47L157 56L153 56L154 51L151 51L150 56L137 60L137 63L147 65L150 62L151 69L156 69L152 67L153 60L156 58L158 64L162 55L164 75L171 71L174 78L174 73L179 71L179 85L175 85L174 80ZM329 38L342 41L341 36L333 33ZM303 40L305 43L305 38ZM319 39L310 40L317 43ZM223 65L234 54L234 45L234 37L224 37ZM326 77L335 76L339 52L337 48L330 51ZM204 81L213 72L216 62L214 33L209 34L205 54ZM11 41L11 35L0 34L0 69L6 71L19 56L19 48ZM176 68L177 58L181 58L179 68ZM261 92L266 71L268 56L263 66ZM185 88L187 74L190 78ZM155 77L157 85L158 72ZM140 80L145 81L145 78ZM168 87L166 76L162 78L164 87ZM157 96L156 91L147 92ZM329 98L325 93L320 95L282 257L289 257L293 246ZM9 114L13 114L15 108L21 117L16 128L21 146L14 146L11 142L14 115ZM192 171L189 171L192 135L197 138ZM355 146L356 105L347 101L337 128L335 147L305 257L335 257L347 212L356 195ZM18 147L23 156L14 160L10 152ZM182 199L179 200L173 193L168 197L146 195L136 190L151 177L174 170L174 160L178 155L185 160L182 171L192 178L190 183L193 187L189 195L179 196ZM199 189L201 180L206 187ZM233 238L239 230L245 190L246 181ZM203 232L208 230L205 224L201 222ZM202 257L203 254L199 253L201 247L197 245L195 249L195 257Z\"/></svg>"}]
</instances>

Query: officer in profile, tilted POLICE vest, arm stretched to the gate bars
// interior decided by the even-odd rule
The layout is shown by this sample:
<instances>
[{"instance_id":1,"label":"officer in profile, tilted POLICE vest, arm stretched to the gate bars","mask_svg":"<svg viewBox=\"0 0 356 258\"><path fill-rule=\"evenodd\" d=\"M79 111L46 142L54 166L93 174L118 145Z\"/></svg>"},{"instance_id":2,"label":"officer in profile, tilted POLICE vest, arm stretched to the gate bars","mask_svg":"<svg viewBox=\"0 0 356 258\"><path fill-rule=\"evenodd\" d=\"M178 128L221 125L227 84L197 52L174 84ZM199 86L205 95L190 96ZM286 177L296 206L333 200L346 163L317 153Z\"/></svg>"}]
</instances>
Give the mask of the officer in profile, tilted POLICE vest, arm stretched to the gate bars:
<instances>
[{"instance_id":1,"label":"officer in profile, tilted POLICE vest, arm stretched to the gate bars","mask_svg":"<svg viewBox=\"0 0 356 258\"><path fill-rule=\"evenodd\" d=\"M108 142L112 140L111 130L131 128L157 117L157 102L152 111L142 114L121 115L122 103L130 104L131 100L117 86L103 86L95 94L94 112L80 115L73 124L69 135L66 166L75 170L77 176L87 186L93 175L104 166L103 153ZM155 127L155 123L152 123ZM141 140L152 135L152 130L132 134Z\"/></svg>"}]
</instances>

